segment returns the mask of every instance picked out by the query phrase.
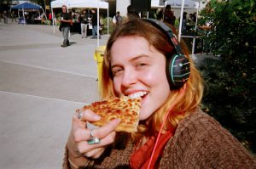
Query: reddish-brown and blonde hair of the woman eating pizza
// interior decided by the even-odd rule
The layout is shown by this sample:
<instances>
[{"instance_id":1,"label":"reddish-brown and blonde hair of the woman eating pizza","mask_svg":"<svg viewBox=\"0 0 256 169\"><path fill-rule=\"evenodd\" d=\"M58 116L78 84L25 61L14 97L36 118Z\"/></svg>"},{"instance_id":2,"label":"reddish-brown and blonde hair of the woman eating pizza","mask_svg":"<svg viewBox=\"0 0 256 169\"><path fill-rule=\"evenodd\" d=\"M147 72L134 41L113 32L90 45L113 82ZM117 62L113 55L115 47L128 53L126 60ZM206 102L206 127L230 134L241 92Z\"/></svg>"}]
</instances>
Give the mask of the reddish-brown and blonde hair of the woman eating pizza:
<instances>
[{"instance_id":1,"label":"reddish-brown and blonde hair of the woman eating pizza","mask_svg":"<svg viewBox=\"0 0 256 169\"><path fill-rule=\"evenodd\" d=\"M168 25L168 24L166 24ZM172 26L172 25L168 25ZM175 29L172 27L172 30ZM175 31L174 31L175 32ZM102 65L102 98L116 97L117 94L113 90L113 74L110 68L111 59L111 48L113 42L115 42L119 37L125 36L137 36L144 37L149 45L156 48L161 54L166 57L174 53L174 48L172 44L168 41L167 35L156 28L150 23L137 19L128 20L127 22L120 25L115 31L113 31L111 37L108 39L108 44L106 52L104 55L103 65ZM165 130L172 130L177 127L179 121L181 121L185 116L191 114L195 109L201 104L201 98L203 95L204 83L201 78L199 71L195 68L192 60L189 58L188 48L185 47L184 43L181 43L183 48L183 54L188 57L190 65L190 76L189 81L186 82L185 88L181 87L179 89L170 89L170 94L166 103L163 104L158 110L154 112L153 115L149 117L147 121L141 121L138 127L138 132L133 138L137 138L141 133L154 133L159 132L160 125L163 122L164 116L168 113L171 104L176 103L165 123ZM179 97L180 93L183 93L183 97Z\"/></svg>"}]
</instances>

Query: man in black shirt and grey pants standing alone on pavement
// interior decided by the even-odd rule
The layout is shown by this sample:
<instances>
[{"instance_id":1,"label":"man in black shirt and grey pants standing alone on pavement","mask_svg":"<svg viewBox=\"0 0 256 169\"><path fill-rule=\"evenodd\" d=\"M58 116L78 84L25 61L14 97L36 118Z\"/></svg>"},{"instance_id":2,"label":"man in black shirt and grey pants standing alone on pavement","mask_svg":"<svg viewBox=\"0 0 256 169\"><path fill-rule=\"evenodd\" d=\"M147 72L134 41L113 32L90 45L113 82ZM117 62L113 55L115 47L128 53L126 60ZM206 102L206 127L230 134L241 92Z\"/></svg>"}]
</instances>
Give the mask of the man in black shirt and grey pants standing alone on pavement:
<instances>
[{"instance_id":1,"label":"man in black shirt and grey pants standing alone on pavement","mask_svg":"<svg viewBox=\"0 0 256 169\"><path fill-rule=\"evenodd\" d=\"M67 13L67 6L62 5L62 13L61 13L61 31L62 36L64 38L63 44L61 44L61 47L67 47L69 46L69 40L68 40L68 34L70 31L70 26L73 23L71 14Z\"/></svg>"}]
</instances>

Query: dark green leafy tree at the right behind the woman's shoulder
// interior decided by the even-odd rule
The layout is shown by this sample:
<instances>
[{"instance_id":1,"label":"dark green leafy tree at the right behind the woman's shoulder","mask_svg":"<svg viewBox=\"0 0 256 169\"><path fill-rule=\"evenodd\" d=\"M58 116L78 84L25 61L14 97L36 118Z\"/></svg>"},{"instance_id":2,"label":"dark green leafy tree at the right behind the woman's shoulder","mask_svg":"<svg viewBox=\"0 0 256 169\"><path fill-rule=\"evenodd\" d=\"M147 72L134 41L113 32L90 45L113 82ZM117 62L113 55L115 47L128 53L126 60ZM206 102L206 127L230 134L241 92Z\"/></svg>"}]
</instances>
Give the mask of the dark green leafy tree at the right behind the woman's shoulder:
<instances>
[{"instance_id":1,"label":"dark green leafy tree at the right behind the woman's shoulder","mask_svg":"<svg viewBox=\"0 0 256 169\"><path fill-rule=\"evenodd\" d=\"M204 47L217 60L201 67L208 90L204 109L256 152L256 4L255 0L212 0L200 24L212 21Z\"/></svg>"}]
</instances>

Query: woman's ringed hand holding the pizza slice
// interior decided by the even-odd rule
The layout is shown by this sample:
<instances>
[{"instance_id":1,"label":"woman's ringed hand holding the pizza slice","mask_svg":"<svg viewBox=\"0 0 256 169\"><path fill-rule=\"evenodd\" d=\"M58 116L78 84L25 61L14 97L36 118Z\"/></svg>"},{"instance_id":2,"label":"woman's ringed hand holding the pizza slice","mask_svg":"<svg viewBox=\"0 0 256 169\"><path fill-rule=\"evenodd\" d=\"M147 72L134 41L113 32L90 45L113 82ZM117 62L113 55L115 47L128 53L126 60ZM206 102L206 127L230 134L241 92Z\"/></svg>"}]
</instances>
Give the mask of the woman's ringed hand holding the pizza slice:
<instances>
[{"instance_id":1,"label":"woman's ringed hand holding the pizza slice","mask_svg":"<svg viewBox=\"0 0 256 169\"><path fill-rule=\"evenodd\" d=\"M81 119L78 113L73 115L72 130L70 132L67 149L73 158L90 157L98 158L102 155L108 144L112 144L116 135L114 129L118 126L119 120L110 121L107 125L95 129L87 128L86 121L98 121L100 116L91 110L81 112ZM100 138L99 144L88 144L88 140L93 137Z\"/></svg>"}]
</instances>

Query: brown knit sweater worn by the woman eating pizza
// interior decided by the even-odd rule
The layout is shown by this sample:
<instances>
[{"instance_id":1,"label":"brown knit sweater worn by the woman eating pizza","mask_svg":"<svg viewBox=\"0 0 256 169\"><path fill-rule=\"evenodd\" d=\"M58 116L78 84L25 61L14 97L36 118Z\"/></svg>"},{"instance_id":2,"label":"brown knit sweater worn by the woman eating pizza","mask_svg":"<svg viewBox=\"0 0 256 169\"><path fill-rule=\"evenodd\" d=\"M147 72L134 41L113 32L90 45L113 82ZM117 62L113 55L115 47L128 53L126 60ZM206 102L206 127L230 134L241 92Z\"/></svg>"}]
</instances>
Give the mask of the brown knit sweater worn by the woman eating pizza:
<instances>
[{"instance_id":1,"label":"brown knit sweater worn by the woman eating pizza","mask_svg":"<svg viewBox=\"0 0 256 169\"><path fill-rule=\"evenodd\" d=\"M133 145L108 149L85 168L129 168ZM67 149L63 168L67 169ZM201 110L184 118L166 144L160 168L255 168L256 159L218 121Z\"/></svg>"}]
</instances>

